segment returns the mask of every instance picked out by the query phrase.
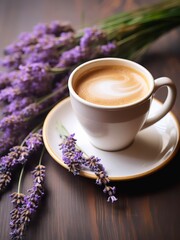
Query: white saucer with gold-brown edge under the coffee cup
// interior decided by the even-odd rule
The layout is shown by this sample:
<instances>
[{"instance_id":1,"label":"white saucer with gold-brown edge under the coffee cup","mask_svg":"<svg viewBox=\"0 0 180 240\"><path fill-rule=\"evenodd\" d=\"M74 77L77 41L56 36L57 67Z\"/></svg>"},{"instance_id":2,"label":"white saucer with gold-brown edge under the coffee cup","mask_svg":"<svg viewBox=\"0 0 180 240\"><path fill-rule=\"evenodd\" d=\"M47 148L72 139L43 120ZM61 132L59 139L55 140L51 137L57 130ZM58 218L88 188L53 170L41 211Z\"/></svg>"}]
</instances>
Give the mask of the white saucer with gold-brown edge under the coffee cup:
<instances>
[{"instance_id":1,"label":"white saucer with gold-brown edge under the coffee cup","mask_svg":"<svg viewBox=\"0 0 180 240\"><path fill-rule=\"evenodd\" d=\"M162 103L154 99L150 115L161 106ZM72 111L70 98L66 98L49 112L43 126L43 139L47 151L65 168L67 166L62 161L59 148L60 125L63 125L69 133L75 133L77 145L87 155L101 159L110 180L135 179L151 174L172 160L179 147L179 123L173 113L169 112L151 127L140 131L128 148L116 152L97 149L88 141L86 133ZM93 172L86 169L82 170L81 175L96 178Z\"/></svg>"}]
</instances>

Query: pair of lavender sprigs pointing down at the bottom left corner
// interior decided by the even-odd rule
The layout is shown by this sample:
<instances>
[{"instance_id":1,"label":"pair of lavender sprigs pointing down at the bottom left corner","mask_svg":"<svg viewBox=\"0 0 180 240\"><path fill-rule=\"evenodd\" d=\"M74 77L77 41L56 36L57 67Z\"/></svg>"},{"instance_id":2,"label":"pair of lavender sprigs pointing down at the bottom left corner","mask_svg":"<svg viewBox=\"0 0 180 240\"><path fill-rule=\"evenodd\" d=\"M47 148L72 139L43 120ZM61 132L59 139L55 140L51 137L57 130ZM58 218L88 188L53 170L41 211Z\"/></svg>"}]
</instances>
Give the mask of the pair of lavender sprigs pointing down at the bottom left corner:
<instances>
[{"instance_id":1,"label":"pair of lavender sprigs pointing down at the bottom left corner","mask_svg":"<svg viewBox=\"0 0 180 240\"><path fill-rule=\"evenodd\" d=\"M33 176L33 187L27 190L28 194L24 195L18 191L10 195L11 202L14 205L14 209L10 213L10 236L12 239L24 239L29 222L39 207L44 195L45 166L39 164L31 173Z\"/></svg>"}]
</instances>

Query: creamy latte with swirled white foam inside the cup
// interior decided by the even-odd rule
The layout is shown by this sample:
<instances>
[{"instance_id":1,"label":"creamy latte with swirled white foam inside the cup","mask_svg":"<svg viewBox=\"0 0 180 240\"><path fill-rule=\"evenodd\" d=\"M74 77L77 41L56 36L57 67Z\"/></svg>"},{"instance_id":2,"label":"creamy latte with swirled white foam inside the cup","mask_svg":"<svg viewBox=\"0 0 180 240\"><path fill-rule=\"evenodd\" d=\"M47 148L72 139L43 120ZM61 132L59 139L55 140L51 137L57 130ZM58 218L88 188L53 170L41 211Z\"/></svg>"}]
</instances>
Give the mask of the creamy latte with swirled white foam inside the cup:
<instances>
[{"instance_id":1,"label":"creamy latte with swirled white foam inside the cup","mask_svg":"<svg viewBox=\"0 0 180 240\"><path fill-rule=\"evenodd\" d=\"M94 68L79 77L74 89L84 100L105 106L135 103L149 92L146 78L126 66Z\"/></svg>"}]
</instances>

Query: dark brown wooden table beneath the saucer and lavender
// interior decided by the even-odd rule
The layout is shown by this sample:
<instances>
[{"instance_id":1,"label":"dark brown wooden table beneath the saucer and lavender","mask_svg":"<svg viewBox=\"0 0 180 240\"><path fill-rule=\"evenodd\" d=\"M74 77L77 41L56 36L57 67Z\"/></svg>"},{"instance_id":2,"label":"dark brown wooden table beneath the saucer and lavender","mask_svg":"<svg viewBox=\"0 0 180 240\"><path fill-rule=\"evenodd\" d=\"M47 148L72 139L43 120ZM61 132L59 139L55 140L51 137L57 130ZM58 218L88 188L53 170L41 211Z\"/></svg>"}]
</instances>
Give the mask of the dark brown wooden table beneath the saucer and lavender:
<instances>
[{"instance_id":1,"label":"dark brown wooden table beneath the saucer and lavender","mask_svg":"<svg viewBox=\"0 0 180 240\"><path fill-rule=\"evenodd\" d=\"M113 13L134 9L154 1L121 0L1 0L0 49L22 31L39 22L68 20L76 28L92 25ZM168 76L180 91L180 29L156 41L141 64L154 77ZM163 96L159 98L162 100ZM173 112L180 120L180 94ZM179 240L180 239L180 153L163 169L138 180L116 182L115 204L106 202L94 180L74 177L48 153L46 197L31 222L26 239L34 240ZM31 186L24 180L23 188ZM9 239L9 194L0 198L0 239Z\"/></svg>"}]
</instances>

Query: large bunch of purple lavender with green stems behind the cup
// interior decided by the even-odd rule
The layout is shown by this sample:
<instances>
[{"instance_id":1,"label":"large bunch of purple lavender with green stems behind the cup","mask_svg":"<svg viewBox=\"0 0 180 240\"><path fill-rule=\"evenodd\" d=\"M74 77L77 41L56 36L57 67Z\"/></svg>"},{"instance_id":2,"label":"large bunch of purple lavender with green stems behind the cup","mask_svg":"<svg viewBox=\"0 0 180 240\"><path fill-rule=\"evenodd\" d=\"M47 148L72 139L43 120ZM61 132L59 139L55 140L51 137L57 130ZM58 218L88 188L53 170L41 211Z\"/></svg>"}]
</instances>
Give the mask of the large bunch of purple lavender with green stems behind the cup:
<instances>
[{"instance_id":1,"label":"large bunch of purple lavender with green stems behind the cup","mask_svg":"<svg viewBox=\"0 0 180 240\"><path fill-rule=\"evenodd\" d=\"M78 31L58 21L38 24L32 32L20 34L7 46L1 60L4 71L0 73L3 112L0 119L0 193L5 191L18 166L22 166L20 186L24 166L31 160L31 154L43 152L39 126L48 111L68 96L67 79L77 65L107 56L137 59L154 40L179 25L180 1L166 0L116 14L94 27ZM43 195L42 156L33 172L33 188L29 194L22 194L18 187L18 192L12 195L15 205L10 224L13 239L23 238L30 216Z\"/></svg>"}]
</instances>

